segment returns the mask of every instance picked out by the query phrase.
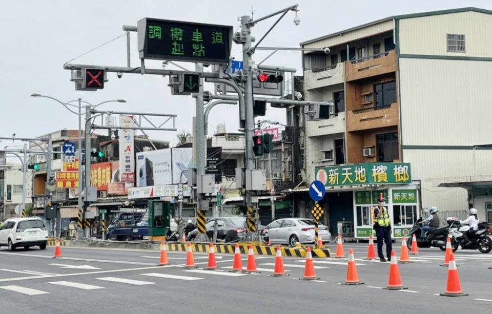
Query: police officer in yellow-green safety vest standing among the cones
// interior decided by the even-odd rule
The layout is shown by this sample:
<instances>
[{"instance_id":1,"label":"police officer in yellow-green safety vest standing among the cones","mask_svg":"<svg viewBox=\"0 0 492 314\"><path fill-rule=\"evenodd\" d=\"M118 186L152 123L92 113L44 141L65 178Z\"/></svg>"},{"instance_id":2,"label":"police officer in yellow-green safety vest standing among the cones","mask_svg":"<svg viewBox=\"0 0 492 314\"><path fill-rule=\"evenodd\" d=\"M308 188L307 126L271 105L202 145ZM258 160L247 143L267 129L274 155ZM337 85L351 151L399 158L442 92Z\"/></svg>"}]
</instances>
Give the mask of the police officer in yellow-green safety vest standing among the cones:
<instances>
[{"instance_id":1,"label":"police officer in yellow-green safety vest standing among the cones","mask_svg":"<svg viewBox=\"0 0 492 314\"><path fill-rule=\"evenodd\" d=\"M388 261L391 259L391 222L389 222L389 214L386 207L383 207L384 197L381 193L378 199L378 207L374 208L374 226L376 230L376 238L378 240L378 256L381 262L386 262L383 254L383 239L386 243L386 255Z\"/></svg>"}]
</instances>

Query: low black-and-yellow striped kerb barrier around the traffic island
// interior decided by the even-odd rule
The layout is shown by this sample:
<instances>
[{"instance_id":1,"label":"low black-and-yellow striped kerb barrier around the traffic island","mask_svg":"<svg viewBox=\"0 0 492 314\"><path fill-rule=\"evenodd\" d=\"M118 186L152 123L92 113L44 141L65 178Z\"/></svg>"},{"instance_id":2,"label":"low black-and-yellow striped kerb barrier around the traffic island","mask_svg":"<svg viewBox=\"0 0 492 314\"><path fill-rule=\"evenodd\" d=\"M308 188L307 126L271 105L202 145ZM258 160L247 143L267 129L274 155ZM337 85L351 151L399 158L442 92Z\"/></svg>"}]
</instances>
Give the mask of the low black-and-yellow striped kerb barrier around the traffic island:
<instances>
[{"instance_id":1,"label":"low black-and-yellow striped kerb barrier around the traffic island","mask_svg":"<svg viewBox=\"0 0 492 314\"><path fill-rule=\"evenodd\" d=\"M193 252L209 252L208 243L193 243L191 242ZM239 248L242 254L248 254L248 243L239 243ZM215 253L234 254L236 246L235 244L214 244ZM166 243L166 249L169 251L186 252L188 249L188 243ZM282 256L291 257L305 257L306 250L303 247L280 247ZM253 252L255 255L276 255L276 246L266 245L253 245ZM313 249L311 250L313 258L330 257L330 249Z\"/></svg>"}]
</instances>

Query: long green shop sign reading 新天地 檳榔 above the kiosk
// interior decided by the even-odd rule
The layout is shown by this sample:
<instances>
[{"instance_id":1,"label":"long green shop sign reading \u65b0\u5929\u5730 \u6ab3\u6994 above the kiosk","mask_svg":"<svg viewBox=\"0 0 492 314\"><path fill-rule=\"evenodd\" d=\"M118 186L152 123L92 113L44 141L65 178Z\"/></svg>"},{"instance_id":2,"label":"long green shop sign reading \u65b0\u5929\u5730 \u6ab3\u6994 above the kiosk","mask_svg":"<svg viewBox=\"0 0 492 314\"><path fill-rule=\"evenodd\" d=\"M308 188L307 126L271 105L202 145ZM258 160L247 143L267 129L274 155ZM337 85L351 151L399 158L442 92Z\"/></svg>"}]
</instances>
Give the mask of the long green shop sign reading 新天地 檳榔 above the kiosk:
<instances>
[{"instance_id":1,"label":"long green shop sign reading \u65b0\u5929\u5730 \u6ab3\u6994 above the kiosk","mask_svg":"<svg viewBox=\"0 0 492 314\"><path fill-rule=\"evenodd\" d=\"M315 169L325 186L411 183L409 163L361 163Z\"/></svg>"}]
</instances>

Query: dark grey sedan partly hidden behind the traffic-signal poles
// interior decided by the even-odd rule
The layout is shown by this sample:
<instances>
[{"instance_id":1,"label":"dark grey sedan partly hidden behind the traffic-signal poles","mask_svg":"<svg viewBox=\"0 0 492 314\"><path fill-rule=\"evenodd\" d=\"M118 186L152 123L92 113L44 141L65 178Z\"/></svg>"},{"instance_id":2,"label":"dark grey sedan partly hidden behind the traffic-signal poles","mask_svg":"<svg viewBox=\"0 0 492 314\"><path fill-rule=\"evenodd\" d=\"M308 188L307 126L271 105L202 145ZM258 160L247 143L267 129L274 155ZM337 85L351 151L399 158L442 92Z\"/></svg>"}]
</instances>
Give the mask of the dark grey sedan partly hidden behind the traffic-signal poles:
<instances>
[{"instance_id":1,"label":"dark grey sedan partly hidden behind the traffic-signal poles","mask_svg":"<svg viewBox=\"0 0 492 314\"><path fill-rule=\"evenodd\" d=\"M217 221L217 239L224 242L231 242L242 237L246 233L246 217L219 217L207 220L205 224L206 234L212 239L214 236L214 223ZM196 238L198 229L194 229L188 234L187 240L191 241Z\"/></svg>"}]
</instances>

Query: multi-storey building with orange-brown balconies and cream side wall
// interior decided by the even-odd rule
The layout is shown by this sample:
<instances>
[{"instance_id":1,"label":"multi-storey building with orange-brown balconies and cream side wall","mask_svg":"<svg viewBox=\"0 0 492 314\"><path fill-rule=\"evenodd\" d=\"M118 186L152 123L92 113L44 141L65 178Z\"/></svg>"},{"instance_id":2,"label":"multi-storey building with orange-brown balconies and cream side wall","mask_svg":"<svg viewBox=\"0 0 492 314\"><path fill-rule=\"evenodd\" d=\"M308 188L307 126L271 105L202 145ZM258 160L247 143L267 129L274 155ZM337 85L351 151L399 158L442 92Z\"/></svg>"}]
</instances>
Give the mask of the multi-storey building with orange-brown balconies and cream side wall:
<instances>
[{"instance_id":1,"label":"multi-storey building with orange-brown balconies and cream side wall","mask_svg":"<svg viewBox=\"0 0 492 314\"><path fill-rule=\"evenodd\" d=\"M417 193L417 213L412 210L408 219L393 204L398 185L383 181L337 190L337 200L329 196L325 204L338 213L326 217L332 233L338 221L355 222L357 228L362 220L357 189L386 190L392 221L402 226L424 207L467 210L465 190L437 187L432 180L492 172L492 150L475 149L488 144L492 132L487 121L492 52L485 39L490 26L492 11L462 8L392 16L300 44L330 47L329 54L303 54L304 95L334 103L305 110L306 187L319 169L403 162L411 165L413 180L404 188Z\"/></svg>"}]
</instances>

